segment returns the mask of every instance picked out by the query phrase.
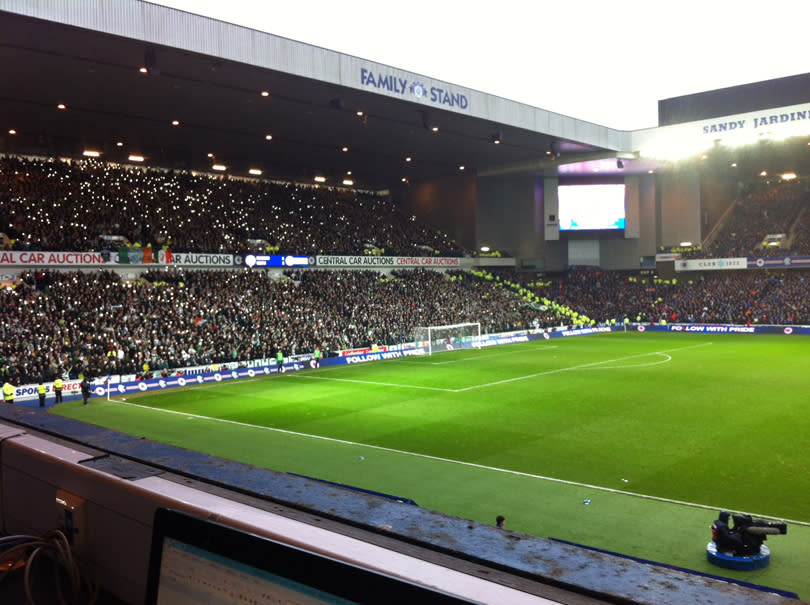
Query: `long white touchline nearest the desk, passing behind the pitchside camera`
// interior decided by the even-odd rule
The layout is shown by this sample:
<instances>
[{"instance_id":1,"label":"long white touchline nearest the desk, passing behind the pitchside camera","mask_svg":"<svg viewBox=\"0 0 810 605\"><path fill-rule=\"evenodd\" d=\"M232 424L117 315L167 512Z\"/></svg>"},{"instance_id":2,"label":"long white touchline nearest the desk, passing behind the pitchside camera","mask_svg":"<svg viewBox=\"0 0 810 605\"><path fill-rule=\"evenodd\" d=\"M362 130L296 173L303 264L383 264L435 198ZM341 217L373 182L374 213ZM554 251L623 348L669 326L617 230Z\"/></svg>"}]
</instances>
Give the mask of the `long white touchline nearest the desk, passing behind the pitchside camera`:
<instances>
[{"instance_id":1,"label":"long white touchline nearest the desk, passing behind the pitchside camera","mask_svg":"<svg viewBox=\"0 0 810 605\"><path fill-rule=\"evenodd\" d=\"M711 344L711 343L708 343L708 344ZM687 347L687 348L691 348L691 347ZM139 403L131 403L129 401L120 401L120 400L117 400L117 399L111 399L110 401L113 401L113 402L118 403L120 405L128 405L128 406L132 406L132 407L136 407L136 408L143 408L143 409L151 410L151 411L154 411L154 412L163 412L163 413L166 413L166 414L176 414L178 416L186 416L189 419L195 418L195 419L198 419L198 420L209 420L211 422L223 422L225 424L233 424L233 425L242 426L242 427L245 427L245 428L271 431L271 432L274 432L274 433L282 433L282 434L285 434L285 435L292 435L292 436L295 436L295 437L306 437L306 438L309 438L309 439L320 439L322 441L329 441L329 442L332 442L332 443L340 443L342 445L351 445L351 446L356 446L356 447L366 447L366 448L371 448L371 449L374 449L374 450L380 450L380 451L383 451L383 452L389 452L389 453L392 453L392 454L399 454L399 455L403 455L403 456L415 456L417 458L425 458L426 460L434 460L436 462L444 462L444 463L448 463L448 464L458 464L460 466L468 466L470 468L477 468L477 469L481 469L481 470L485 470L485 471L493 471L493 472L496 472L496 473L505 473L505 474L508 474L508 475L516 475L516 476L519 476L519 477L526 477L528 479L539 479L541 481L550 481L552 483L561 483L563 485L571 485L573 487L584 487L584 488L587 488L587 489L594 489L594 490L601 491L601 492L607 492L607 493L611 493L611 494L619 494L619 495L623 495L623 496L633 496L633 497L636 497L636 498L643 498L645 500L653 500L653 501L656 501L656 502L664 502L664 503L667 503L667 504L678 504L680 506L688 506L688 507L691 507L691 508L701 508L701 509L712 510L712 511L718 510L717 506L709 506L709 505L706 505L706 504L698 504L696 502L685 502L683 500L675 500L675 499L672 499L672 498L663 498L661 496L650 496L648 494L638 494L636 492L628 492L628 491L625 491L625 490L614 489L614 488L611 488L611 487L603 487L603 486L600 486L600 485L591 485L589 483L580 483L578 481L569 481L567 479L558 479L556 477L546 477L544 475L535 475L533 473L526 473L526 472L523 472L523 471L514 471L514 470L510 470L510 469L506 469L506 468L499 468L497 466L488 466L486 464L478 464L478 463L475 463L475 462L464 462L463 460L451 460L450 458L442 458L440 456L431 456L430 454L420 454L418 452L406 452L404 450L397 450L397 449L390 448L390 447L383 447L381 445L369 445L367 443L358 443L356 441L349 441L347 439L337 439L335 437L324 437L322 435L310 435L308 433L299 433L298 431L290 431L290 430L287 430L287 429L279 429L279 428L275 428L275 427L271 427L271 426L261 426L261 425L258 425L258 424L249 424L247 422L240 422L238 420L228 420L226 418L213 418L211 416L203 416L201 414L191 414L189 412L180 412L178 410L167 410L167 409L164 409L164 408L153 408L153 407L150 407L148 405L142 405L142 404L139 404ZM720 507L720 508L722 508L722 507ZM738 512L745 513L745 511L738 511ZM786 523L792 523L792 524L795 524L795 525L802 525L802 526L805 526L805 527L810 527L810 522L796 521L796 520L793 520L793 519L783 519L781 517L772 517L770 515L763 515L763 514L760 514L760 513L746 513L746 514L750 514L753 517L761 517L761 518L766 518L766 519L779 519L780 521L785 521Z\"/></svg>"}]
</instances>

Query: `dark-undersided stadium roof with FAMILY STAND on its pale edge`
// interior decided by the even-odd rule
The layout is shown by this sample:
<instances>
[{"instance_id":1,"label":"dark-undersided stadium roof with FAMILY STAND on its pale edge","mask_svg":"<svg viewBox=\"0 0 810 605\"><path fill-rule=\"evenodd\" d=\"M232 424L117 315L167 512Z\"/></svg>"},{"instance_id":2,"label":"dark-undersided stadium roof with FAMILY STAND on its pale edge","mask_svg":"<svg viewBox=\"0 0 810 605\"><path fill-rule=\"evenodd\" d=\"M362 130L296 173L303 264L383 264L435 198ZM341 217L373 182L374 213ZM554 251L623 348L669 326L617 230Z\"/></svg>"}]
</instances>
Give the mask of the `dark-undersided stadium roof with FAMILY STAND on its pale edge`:
<instances>
[{"instance_id":1,"label":"dark-undersided stadium roof with FAMILY STAND on its pale edge","mask_svg":"<svg viewBox=\"0 0 810 605\"><path fill-rule=\"evenodd\" d=\"M639 158L633 133L140 0L3 6L0 152L89 150L182 170L220 164L237 176L348 178L369 190L462 170L583 178L666 168ZM376 85L360 75L369 72ZM398 94L397 78L410 94ZM434 87L469 107L430 102ZM721 162L740 174L806 175L808 149L748 149Z\"/></svg>"}]
</instances>

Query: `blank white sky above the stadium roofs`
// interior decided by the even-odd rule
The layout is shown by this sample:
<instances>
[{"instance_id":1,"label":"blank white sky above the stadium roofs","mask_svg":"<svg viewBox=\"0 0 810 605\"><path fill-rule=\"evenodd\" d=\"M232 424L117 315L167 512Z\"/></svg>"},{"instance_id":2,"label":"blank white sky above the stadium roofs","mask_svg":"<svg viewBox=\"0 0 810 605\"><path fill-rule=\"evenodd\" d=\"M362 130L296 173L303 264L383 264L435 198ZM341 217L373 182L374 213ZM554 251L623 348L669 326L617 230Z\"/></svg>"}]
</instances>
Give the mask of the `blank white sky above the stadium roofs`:
<instances>
[{"instance_id":1,"label":"blank white sky above the stadium roofs","mask_svg":"<svg viewBox=\"0 0 810 605\"><path fill-rule=\"evenodd\" d=\"M156 3L621 130L660 99L810 72L808 0Z\"/></svg>"}]
</instances>

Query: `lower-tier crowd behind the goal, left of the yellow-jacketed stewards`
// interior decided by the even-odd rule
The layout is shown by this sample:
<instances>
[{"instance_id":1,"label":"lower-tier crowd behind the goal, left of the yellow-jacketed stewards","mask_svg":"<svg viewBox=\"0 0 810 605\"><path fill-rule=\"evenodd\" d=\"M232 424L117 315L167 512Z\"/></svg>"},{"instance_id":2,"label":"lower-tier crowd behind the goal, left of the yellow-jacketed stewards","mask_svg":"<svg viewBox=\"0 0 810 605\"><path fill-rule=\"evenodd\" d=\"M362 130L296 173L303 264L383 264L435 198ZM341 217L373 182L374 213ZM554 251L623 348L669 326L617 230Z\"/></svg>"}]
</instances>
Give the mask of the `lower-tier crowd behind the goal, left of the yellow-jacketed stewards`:
<instances>
[{"instance_id":1,"label":"lower-tier crowd behind the goal, left of the yellow-jacketed stewards","mask_svg":"<svg viewBox=\"0 0 810 605\"><path fill-rule=\"evenodd\" d=\"M397 344L417 326L539 325L526 301L469 274L427 270L30 272L0 290L0 358L17 382Z\"/></svg>"}]
</instances>

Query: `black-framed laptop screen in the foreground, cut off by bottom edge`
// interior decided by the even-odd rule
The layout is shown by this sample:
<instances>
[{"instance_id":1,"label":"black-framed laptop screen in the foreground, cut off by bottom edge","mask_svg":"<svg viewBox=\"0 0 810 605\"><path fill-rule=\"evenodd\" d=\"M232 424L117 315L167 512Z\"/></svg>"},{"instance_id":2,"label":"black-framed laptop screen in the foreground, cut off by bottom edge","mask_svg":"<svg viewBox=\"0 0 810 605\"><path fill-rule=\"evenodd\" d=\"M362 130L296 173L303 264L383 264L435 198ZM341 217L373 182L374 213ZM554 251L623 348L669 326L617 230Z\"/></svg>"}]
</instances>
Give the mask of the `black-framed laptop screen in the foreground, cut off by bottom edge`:
<instances>
[{"instance_id":1,"label":"black-framed laptop screen in the foreground, cut off by bottom edge","mask_svg":"<svg viewBox=\"0 0 810 605\"><path fill-rule=\"evenodd\" d=\"M148 605L470 603L187 513L155 513Z\"/></svg>"}]
</instances>

